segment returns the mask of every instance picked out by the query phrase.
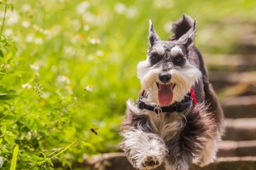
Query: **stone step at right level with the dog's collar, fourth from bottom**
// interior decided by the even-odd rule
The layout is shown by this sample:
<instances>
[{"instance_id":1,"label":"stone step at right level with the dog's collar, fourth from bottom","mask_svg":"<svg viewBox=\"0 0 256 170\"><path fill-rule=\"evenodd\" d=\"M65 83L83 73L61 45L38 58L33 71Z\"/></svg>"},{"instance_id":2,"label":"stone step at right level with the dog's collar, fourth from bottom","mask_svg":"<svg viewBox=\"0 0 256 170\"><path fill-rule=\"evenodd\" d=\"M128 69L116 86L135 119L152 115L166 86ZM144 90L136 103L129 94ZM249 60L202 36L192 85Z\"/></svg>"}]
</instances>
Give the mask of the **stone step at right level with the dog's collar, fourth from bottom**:
<instances>
[{"instance_id":1,"label":"stone step at right level with the dog's collar, fourth from bottom","mask_svg":"<svg viewBox=\"0 0 256 170\"><path fill-rule=\"evenodd\" d=\"M226 118L256 117L256 95L224 99L220 103Z\"/></svg>"}]
</instances>

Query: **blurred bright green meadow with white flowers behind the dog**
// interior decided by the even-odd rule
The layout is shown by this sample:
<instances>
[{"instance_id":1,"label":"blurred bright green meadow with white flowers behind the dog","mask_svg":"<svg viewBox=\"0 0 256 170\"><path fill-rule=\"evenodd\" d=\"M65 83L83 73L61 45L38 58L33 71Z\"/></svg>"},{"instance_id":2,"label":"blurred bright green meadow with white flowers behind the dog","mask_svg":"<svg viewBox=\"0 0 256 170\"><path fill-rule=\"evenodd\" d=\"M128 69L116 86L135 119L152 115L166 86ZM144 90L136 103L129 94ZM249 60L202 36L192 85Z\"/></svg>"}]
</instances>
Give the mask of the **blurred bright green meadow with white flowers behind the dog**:
<instances>
[{"instance_id":1,"label":"blurred bright green meadow with white flowers behind the dog","mask_svg":"<svg viewBox=\"0 0 256 170\"><path fill-rule=\"evenodd\" d=\"M234 54L256 16L254 0L9 3L3 36L15 48L1 44L3 169L15 145L17 169L49 169L52 161L72 167L84 154L119 150L125 101L140 90L137 62L146 57L149 19L164 40L172 22L189 14L198 21L196 45L203 54ZM1 20L3 14L1 4Z\"/></svg>"}]
</instances>

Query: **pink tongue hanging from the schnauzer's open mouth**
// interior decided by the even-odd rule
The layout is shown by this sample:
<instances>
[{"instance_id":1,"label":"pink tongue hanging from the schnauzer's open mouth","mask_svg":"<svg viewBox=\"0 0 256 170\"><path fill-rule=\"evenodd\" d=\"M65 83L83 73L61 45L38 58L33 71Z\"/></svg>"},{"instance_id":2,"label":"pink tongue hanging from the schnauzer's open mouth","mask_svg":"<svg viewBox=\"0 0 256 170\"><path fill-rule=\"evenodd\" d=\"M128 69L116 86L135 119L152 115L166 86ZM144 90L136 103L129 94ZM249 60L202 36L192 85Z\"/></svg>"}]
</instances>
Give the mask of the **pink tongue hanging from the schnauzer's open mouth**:
<instances>
[{"instance_id":1,"label":"pink tongue hanging from the schnauzer's open mouth","mask_svg":"<svg viewBox=\"0 0 256 170\"><path fill-rule=\"evenodd\" d=\"M166 106L172 104L172 86L172 84L159 84L158 101L160 105Z\"/></svg>"}]
</instances>

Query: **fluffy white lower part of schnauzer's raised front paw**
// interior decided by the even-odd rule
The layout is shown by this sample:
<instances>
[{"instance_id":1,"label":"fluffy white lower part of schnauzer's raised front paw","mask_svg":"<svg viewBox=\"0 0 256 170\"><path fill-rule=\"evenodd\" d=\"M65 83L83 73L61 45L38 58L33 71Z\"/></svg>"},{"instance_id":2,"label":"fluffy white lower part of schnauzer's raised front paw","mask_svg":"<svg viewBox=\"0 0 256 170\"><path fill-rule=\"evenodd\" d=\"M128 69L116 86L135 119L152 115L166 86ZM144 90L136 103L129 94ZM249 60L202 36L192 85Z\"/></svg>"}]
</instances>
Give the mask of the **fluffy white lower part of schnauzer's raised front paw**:
<instances>
[{"instance_id":1,"label":"fluffy white lower part of schnauzer's raised front paw","mask_svg":"<svg viewBox=\"0 0 256 170\"><path fill-rule=\"evenodd\" d=\"M128 160L138 169L158 167L166 156L166 146L157 134L134 129L122 134L122 149Z\"/></svg>"}]
</instances>

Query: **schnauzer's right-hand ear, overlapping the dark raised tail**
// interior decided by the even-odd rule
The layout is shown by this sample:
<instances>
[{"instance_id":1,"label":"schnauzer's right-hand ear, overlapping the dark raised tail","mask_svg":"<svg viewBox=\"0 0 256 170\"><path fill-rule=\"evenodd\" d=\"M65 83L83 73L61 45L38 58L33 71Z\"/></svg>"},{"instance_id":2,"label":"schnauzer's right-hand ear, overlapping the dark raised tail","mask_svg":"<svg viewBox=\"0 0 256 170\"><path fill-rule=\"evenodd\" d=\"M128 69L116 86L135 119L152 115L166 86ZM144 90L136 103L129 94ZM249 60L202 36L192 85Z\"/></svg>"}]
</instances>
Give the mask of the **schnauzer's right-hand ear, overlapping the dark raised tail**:
<instances>
[{"instance_id":1,"label":"schnauzer's right-hand ear, overlapping the dark raised tail","mask_svg":"<svg viewBox=\"0 0 256 170\"><path fill-rule=\"evenodd\" d=\"M189 47L189 45L193 44L195 41L195 31L196 31L196 20L194 21L194 24L191 26L189 31L185 33L182 37L180 37L177 42L181 42L186 48Z\"/></svg>"}]
</instances>

